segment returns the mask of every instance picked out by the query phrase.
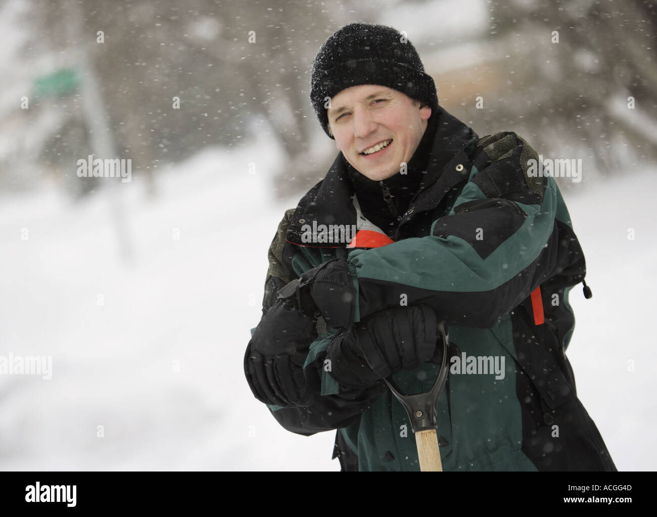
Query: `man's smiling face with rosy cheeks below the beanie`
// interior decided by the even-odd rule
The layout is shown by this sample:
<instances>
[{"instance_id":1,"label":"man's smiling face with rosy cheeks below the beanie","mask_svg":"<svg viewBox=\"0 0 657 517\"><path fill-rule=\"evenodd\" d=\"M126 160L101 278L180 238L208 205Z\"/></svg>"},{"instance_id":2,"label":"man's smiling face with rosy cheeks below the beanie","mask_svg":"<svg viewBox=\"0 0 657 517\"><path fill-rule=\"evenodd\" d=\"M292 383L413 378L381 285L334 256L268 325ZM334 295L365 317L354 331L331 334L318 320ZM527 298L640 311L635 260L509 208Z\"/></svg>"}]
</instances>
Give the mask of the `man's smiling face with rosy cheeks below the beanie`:
<instances>
[{"instance_id":1,"label":"man's smiling face with rosy cheeks below the beanie","mask_svg":"<svg viewBox=\"0 0 657 517\"><path fill-rule=\"evenodd\" d=\"M338 149L374 181L396 175L411 160L431 116L430 107L405 93L371 84L342 90L330 106L328 127Z\"/></svg>"}]
</instances>

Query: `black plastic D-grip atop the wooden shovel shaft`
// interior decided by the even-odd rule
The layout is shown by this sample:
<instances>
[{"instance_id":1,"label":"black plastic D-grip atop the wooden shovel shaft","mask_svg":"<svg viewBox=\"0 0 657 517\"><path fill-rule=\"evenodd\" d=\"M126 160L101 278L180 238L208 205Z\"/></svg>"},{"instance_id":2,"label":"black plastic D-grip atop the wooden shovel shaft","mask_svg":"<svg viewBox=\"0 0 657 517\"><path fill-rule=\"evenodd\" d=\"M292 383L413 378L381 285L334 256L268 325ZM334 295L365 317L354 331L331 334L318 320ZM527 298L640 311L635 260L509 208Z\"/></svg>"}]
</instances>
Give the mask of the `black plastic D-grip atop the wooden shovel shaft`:
<instances>
[{"instance_id":1,"label":"black plastic D-grip atop the wooden shovel shaft","mask_svg":"<svg viewBox=\"0 0 657 517\"><path fill-rule=\"evenodd\" d=\"M438 377L434 386L425 393L416 393L415 395L403 395L397 389L394 382L389 379L384 379L388 388L393 395L397 397L397 400L401 402L406 413L408 413L409 418L411 419L411 428L413 432L423 431L426 429L436 429L438 428L438 416L437 416L437 405L438 399L440 398L440 393L442 393L443 388L445 387L445 382L447 382L447 359L449 356L449 336L447 335L447 325L444 321L438 322L437 325L438 334L443 336L443 361L440 365L440 372L438 372ZM390 377L392 378L392 376Z\"/></svg>"}]
</instances>

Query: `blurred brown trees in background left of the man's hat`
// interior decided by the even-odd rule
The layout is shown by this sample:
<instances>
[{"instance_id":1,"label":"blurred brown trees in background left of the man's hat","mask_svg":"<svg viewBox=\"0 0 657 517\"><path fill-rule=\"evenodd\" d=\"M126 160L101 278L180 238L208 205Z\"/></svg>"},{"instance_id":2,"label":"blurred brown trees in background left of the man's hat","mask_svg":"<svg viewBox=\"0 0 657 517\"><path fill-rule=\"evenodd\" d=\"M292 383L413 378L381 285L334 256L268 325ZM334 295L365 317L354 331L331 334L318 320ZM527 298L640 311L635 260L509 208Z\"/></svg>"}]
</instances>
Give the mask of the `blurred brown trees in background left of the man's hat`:
<instances>
[{"instance_id":1,"label":"blurred brown trees in background left of the man's hat","mask_svg":"<svg viewBox=\"0 0 657 517\"><path fill-rule=\"evenodd\" d=\"M260 127L271 131L286 156L275 174L279 195L323 175L314 166L319 161L325 171L327 152L311 151L311 131L321 130L309 124L315 118L307 99L309 68L319 45L344 20L331 18L321 3L189 0L182 7L176 0L53 0L46 6L32 3L28 18L35 31L26 55L43 73L75 69L87 56L106 110L104 129L118 155L132 158L133 174L147 180L150 192L159 164L207 145L246 145L257 120L267 121ZM76 10L81 27L73 23ZM55 99L72 101L60 105L62 125L78 124L88 133L76 95L62 92ZM40 102L33 116L43 109ZM43 102L53 105L53 99ZM57 156L50 162L55 166L91 154L89 138L78 133L45 139L41 156Z\"/></svg>"}]
</instances>

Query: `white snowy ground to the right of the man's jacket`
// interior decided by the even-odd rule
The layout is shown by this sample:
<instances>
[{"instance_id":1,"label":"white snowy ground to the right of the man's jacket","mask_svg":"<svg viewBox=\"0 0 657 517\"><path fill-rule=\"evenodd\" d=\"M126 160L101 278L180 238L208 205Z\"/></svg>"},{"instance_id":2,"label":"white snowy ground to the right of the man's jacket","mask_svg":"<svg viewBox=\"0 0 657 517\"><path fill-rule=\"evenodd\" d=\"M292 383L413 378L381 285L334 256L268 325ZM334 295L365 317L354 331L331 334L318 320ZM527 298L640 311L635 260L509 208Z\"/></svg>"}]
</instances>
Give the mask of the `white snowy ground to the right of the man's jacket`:
<instances>
[{"instance_id":1,"label":"white snowy ground to the right of the man's jacket","mask_svg":"<svg viewBox=\"0 0 657 517\"><path fill-rule=\"evenodd\" d=\"M570 294L576 324L566 355L579 399L618 470L654 470L657 458L648 438L657 424L657 232L650 200L656 172L589 183L584 196L564 194L593 291L586 300L580 284Z\"/></svg>"}]
</instances>

